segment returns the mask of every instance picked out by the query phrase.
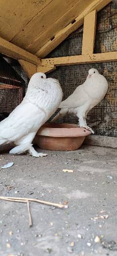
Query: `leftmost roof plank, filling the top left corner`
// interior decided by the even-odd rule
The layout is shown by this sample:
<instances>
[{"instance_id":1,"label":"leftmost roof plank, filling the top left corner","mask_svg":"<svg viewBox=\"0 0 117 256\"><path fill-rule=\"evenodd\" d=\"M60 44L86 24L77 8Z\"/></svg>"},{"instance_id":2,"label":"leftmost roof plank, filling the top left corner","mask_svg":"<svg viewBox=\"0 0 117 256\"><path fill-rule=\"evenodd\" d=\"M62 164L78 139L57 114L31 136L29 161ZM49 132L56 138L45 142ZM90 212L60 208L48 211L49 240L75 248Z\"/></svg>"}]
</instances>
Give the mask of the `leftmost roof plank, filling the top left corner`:
<instances>
[{"instance_id":1,"label":"leftmost roof plank, filling the top left corner","mask_svg":"<svg viewBox=\"0 0 117 256\"><path fill-rule=\"evenodd\" d=\"M0 37L11 40L52 0L0 0Z\"/></svg>"}]
</instances>

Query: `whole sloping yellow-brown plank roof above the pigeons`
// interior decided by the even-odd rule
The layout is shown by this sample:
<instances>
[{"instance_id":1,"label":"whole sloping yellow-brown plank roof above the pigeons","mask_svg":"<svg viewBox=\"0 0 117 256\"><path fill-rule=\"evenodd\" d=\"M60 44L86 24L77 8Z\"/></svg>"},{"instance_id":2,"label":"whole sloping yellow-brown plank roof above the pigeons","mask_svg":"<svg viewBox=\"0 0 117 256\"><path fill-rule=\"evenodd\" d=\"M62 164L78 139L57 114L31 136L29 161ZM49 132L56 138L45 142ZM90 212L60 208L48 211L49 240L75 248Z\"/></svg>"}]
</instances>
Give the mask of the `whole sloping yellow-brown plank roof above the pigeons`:
<instances>
[{"instance_id":1,"label":"whole sloping yellow-brown plank roof above the pigeons","mask_svg":"<svg viewBox=\"0 0 117 256\"><path fill-rule=\"evenodd\" d=\"M110 0L0 0L0 37L45 57Z\"/></svg>"}]
</instances>

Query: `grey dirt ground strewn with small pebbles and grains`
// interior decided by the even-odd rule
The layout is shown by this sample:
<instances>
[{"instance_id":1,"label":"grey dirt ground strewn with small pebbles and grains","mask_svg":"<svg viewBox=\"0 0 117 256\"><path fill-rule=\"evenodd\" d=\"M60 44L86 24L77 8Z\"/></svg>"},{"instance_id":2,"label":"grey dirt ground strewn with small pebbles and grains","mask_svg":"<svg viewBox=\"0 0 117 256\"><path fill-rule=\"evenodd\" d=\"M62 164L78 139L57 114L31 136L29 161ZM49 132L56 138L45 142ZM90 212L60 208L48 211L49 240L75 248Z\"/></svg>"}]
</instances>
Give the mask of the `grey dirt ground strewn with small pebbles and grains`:
<instances>
[{"instance_id":1,"label":"grey dirt ground strewn with small pebbles and grains","mask_svg":"<svg viewBox=\"0 0 117 256\"><path fill-rule=\"evenodd\" d=\"M31 202L29 227L26 203L0 200L0 256L117 256L116 149L47 153L33 158L0 149L0 166L14 162L0 169L0 196L68 201L67 209Z\"/></svg>"}]
</instances>

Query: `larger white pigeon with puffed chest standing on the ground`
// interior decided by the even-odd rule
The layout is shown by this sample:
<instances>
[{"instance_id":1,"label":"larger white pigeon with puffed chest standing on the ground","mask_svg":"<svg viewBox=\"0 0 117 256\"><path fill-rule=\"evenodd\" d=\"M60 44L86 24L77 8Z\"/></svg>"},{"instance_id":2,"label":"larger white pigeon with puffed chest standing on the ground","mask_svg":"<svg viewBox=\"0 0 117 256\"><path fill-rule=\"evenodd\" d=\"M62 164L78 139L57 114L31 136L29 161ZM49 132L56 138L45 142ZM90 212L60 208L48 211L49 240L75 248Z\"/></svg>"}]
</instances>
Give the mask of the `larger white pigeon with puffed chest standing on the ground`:
<instances>
[{"instance_id":1,"label":"larger white pigeon with puffed chest standing on the ground","mask_svg":"<svg viewBox=\"0 0 117 256\"><path fill-rule=\"evenodd\" d=\"M46 78L44 73L34 74L20 105L0 122L0 145L14 142L17 146L10 154L28 151L33 157L46 156L35 151L32 141L41 125L55 113L61 100L62 89L57 79Z\"/></svg>"}]
</instances>

